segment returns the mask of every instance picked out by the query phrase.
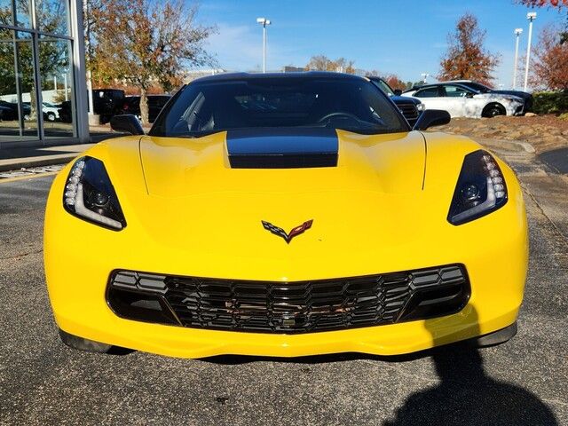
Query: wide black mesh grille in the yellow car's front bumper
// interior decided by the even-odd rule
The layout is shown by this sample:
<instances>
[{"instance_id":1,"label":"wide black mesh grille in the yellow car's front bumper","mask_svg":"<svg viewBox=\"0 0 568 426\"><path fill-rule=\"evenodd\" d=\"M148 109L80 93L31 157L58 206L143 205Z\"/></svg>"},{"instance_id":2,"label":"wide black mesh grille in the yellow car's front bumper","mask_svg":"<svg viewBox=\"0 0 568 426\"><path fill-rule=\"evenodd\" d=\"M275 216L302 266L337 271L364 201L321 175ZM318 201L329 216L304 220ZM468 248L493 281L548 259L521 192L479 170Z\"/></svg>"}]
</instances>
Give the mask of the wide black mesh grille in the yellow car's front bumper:
<instances>
[{"instance_id":1,"label":"wide black mesh grille in the yellow car's front bumper","mask_svg":"<svg viewBox=\"0 0 568 426\"><path fill-rule=\"evenodd\" d=\"M132 302L133 295L141 301ZM155 309L171 315L170 322L185 327L304 333L458 312L469 299L469 281L461 265L289 283L125 271L111 276L108 301L118 315L146 320L139 306L152 305L148 298L156 301ZM136 308L136 315L123 300Z\"/></svg>"}]
</instances>

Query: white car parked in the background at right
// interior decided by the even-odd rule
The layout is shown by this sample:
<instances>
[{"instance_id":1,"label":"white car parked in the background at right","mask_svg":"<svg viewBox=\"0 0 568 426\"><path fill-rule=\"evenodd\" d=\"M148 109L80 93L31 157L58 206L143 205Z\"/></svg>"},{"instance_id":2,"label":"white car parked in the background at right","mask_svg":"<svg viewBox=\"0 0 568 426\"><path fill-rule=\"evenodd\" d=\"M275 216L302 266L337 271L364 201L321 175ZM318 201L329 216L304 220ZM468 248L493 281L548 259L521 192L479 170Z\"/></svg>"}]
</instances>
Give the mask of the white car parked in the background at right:
<instances>
[{"instance_id":1,"label":"white car parked in the background at right","mask_svg":"<svg viewBox=\"0 0 568 426\"><path fill-rule=\"evenodd\" d=\"M481 93L461 83L436 83L414 87L403 96L420 99L426 109L444 109L452 117L494 117L523 114L525 101L501 93Z\"/></svg>"}]
</instances>

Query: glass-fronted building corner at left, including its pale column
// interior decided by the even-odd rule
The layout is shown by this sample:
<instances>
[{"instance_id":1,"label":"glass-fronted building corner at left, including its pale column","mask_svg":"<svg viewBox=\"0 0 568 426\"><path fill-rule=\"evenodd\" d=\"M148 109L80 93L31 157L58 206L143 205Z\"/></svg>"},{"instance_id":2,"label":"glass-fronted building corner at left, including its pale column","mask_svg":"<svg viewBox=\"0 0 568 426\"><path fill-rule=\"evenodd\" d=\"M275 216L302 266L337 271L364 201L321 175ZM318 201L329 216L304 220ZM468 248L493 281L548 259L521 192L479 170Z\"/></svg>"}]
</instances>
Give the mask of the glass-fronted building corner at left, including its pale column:
<instances>
[{"instance_id":1,"label":"glass-fronted building corner at left, including its pale column","mask_svg":"<svg viewBox=\"0 0 568 426\"><path fill-rule=\"evenodd\" d=\"M89 141L81 0L0 0L0 150Z\"/></svg>"}]
</instances>

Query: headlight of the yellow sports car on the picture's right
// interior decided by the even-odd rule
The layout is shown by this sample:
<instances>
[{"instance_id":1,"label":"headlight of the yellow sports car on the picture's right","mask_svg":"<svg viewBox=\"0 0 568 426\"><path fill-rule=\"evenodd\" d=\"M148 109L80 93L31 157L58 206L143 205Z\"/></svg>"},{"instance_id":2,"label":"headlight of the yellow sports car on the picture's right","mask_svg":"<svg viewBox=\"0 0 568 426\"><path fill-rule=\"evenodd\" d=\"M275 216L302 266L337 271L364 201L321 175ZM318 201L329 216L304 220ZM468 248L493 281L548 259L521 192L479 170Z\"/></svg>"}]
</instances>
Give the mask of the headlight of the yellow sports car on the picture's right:
<instances>
[{"instance_id":1,"label":"headlight of the yellow sports car on the picture's right","mask_svg":"<svg viewBox=\"0 0 568 426\"><path fill-rule=\"evenodd\" d=\"M507 185L493 155L484 150L467 154L447 215L452 225L461 225L500 209L507 202Z\"/></svg>"}]
</instances>

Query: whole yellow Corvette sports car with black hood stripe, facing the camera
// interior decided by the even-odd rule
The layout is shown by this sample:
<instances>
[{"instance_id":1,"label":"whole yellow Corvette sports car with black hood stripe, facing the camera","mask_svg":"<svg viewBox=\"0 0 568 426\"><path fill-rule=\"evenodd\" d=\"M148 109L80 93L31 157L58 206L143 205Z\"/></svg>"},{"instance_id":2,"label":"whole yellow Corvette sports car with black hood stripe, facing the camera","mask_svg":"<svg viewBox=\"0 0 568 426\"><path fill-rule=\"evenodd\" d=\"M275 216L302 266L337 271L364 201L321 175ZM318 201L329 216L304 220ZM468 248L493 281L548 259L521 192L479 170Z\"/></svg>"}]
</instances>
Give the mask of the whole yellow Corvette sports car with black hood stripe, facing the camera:
<instances>
[{"instance_id":1,"label":"whole yellow Corvette sports car with black hood stripe, facing the camera","mask_svg":"<svg viewBox=\"0 0 568 426\"><path fill-rule=\"evenodd\" d=\"M411 129L366 78L226 74L55 178L45 272L64 343L175 357L401 354L517 330L525 205L476 142Z\"/></svg>"}]
</instances>

